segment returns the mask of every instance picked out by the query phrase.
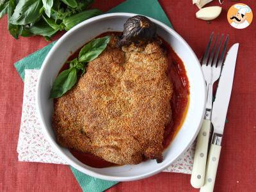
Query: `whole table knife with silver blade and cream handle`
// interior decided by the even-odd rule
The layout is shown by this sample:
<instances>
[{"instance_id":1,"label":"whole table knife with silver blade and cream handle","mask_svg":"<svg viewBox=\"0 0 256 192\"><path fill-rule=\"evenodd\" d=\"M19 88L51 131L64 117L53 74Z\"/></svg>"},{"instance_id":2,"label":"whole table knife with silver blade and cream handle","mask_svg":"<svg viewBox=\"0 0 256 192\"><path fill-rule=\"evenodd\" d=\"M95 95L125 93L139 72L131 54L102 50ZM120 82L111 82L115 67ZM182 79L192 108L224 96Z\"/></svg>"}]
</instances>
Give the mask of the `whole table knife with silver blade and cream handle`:
<instances>
[{"instance_id":1,"label":"whole table knife with silver blade and cream handle","mask_svg":"<svg viewBox=\"0 0 256 192\"><path fill-rule=\"evenodd\" d=\"M220 159L221 140L225 127L225 120L228 111L228 103L230 100L234 72L236 67L236 58L239 44L234 44L229 49L226 60L222 67L220 81L216 92L216 99L212 104L212 126L214 131L212 134L212 142L207 157L207 165L205 171L204 186L201 192L213 191L218 163Z\"/></svg>"}]
</instances>

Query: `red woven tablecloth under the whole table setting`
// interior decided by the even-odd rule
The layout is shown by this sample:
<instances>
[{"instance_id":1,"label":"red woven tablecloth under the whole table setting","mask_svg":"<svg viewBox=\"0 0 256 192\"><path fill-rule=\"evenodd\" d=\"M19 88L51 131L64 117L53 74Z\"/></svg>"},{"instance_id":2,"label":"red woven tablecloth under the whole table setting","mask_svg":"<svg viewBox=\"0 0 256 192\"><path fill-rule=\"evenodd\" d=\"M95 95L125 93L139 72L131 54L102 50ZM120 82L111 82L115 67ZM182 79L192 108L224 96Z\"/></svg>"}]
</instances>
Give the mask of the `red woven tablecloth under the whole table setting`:
<instances>
[{"instance_id":1,"label":"red woven tablecloth under the whole table setting","mask_svg":"<svg viewBox=\"0 0 256 192\"><path fill-rule=\"evenodd\" d=\"M106 11L121 2L96 1L94 6ZM211 31L230 34L229 45L240 43L215 190L253 191L256 188L256 1L243 1L255 11L255 19L246 29L234 29L227 22L227 10L234 1L224 0L221 16L211 24L195 19L198 9L191 2L159 1L175 30L191 45L198 58L204 54ZM211 4L217 5L218 1ZM49 42L38 36L15 40L8 33L6 17L0 21L0 32L0 191L80 191L68 166L18 161L16 148L23 83L13 63ZM108 191L196 189L190 185L190 175L159 173L147 179L119 183Z\"/></svg>"}]
</instances>

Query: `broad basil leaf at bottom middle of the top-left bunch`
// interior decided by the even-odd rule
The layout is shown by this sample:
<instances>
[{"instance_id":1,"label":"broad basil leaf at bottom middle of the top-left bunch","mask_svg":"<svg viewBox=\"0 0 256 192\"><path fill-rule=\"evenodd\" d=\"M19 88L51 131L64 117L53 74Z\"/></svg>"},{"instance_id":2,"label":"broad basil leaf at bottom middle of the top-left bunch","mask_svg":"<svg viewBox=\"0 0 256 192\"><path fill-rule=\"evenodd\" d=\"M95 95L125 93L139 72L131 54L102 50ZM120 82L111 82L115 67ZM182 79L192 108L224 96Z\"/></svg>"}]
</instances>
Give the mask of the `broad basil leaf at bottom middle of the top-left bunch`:
<instances>
[{"instance_id":1,"label":"broad basil leaf at bottom middle of the top-left bunch","mask_svg":"<svg viewBox=\"0 0 256 192\"><path fill-rule=\"evenodd\" d=\"M54 35L58 29L52 29L44 20L39 20L31 28L28 28L30 33L35 35L49 36Z\"/></svg>"}]
</instances>

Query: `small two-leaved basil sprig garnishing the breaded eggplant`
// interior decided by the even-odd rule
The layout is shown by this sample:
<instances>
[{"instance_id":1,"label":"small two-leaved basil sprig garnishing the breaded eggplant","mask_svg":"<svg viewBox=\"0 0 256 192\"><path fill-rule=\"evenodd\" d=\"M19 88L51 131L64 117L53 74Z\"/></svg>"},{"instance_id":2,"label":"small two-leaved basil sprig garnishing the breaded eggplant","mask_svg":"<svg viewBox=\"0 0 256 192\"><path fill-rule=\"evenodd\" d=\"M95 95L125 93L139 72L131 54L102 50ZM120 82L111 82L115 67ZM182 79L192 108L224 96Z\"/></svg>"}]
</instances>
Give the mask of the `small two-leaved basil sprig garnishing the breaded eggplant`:
<instances>
[{"instance_id":1,"label":"small two-leaved basil sprig garnishing the breaded eggplant","mask_svg":"<svg viewBox=\"0 0 256 192\"><path fill-rule=\"evenodd\" d=\"M102 38L95 38L79 52L78 58L70 61L69 68L63 70L58 77L56 77L51 89L51 98L61 97L64 93L70 90L77 82L77 74L79 72L84 74L86 64L97 58L104 49L106 49L110 40L110 36Z\"/></svg>"}]
</instances>

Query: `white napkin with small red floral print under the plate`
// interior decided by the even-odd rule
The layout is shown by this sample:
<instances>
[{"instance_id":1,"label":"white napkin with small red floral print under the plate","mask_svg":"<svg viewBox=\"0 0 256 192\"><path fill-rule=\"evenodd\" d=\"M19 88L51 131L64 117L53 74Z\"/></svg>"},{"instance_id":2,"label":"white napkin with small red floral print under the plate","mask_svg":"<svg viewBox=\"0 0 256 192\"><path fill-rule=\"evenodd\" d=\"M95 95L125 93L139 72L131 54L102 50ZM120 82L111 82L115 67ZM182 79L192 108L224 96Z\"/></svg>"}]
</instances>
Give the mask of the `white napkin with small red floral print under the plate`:
<instances>
[{"instance_id":1,"label":"white napkin with small red floral print under the plate","mask_svg":"<svg viewBox=\"0 0 256 192\"><path fill-rule=\"evenodd\" d=\"M20 134L17 146L19 161L67 164L46 140L36 114L35 90L39 70L25 70ZM164 172L191 174L195 145L182 154Z\"/></svg>"}]
</instances>

